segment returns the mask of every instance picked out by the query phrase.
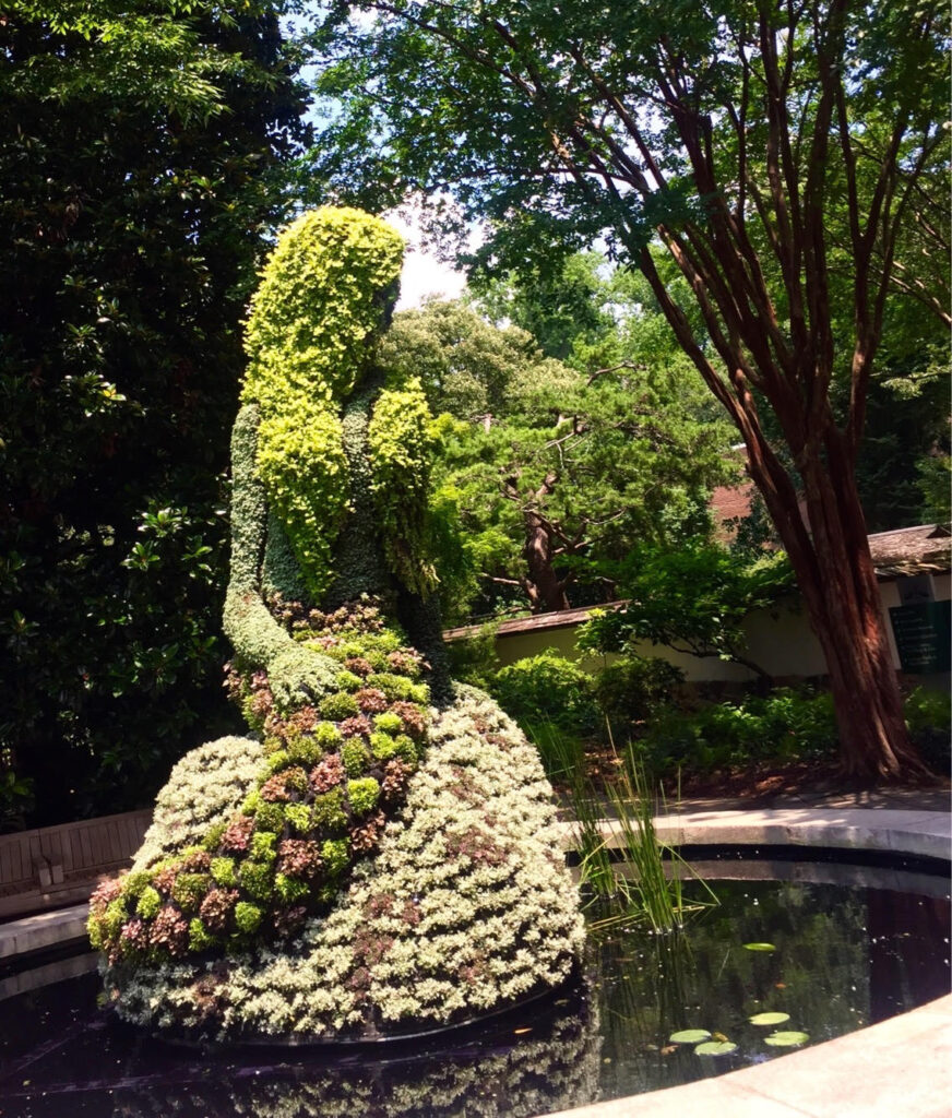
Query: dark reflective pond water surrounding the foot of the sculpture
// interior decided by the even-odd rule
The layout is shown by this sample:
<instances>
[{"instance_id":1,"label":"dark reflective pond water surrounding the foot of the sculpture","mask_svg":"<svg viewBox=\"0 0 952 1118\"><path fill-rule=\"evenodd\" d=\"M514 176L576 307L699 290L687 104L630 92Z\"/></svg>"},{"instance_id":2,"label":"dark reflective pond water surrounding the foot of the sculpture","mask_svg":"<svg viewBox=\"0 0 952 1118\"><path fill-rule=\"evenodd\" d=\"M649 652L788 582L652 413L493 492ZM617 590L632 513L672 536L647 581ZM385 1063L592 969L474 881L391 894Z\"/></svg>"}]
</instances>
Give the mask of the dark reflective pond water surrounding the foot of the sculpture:
<instances>
[{"instance_id":1,"label":"dark reflective pond water surrounding the foot of the sculpture","mask_svg":"<svg viewBox=\"0 0 952 1118\"><path fill-rule=\"evenodd\" d=\"M203 1054L97 1010L95 974L75 974L88 960L0 978L0 1116L532 1118L783 1055L768 1043L778 1031L816 1044L949 991L948 870L699 869L739 880L714 884L720 907L686 934L597 937L575 988L426 1043ZM75 976L11 994L56 967ZM767 1012L789 1020L750 1022ZM683 1030L736 1049L697 1054L670 1042Z\"/></svg>"}]
</instances>

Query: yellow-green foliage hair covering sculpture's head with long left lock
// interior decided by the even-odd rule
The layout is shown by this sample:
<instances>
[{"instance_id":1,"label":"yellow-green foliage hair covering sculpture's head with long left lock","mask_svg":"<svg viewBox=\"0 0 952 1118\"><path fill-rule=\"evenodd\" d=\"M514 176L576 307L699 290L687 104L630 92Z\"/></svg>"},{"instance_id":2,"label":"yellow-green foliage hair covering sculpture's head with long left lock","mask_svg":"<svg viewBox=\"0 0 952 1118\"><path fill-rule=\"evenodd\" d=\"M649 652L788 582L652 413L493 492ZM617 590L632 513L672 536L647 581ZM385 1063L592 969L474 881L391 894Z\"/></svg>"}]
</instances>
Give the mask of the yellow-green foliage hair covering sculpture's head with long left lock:
<instances>
[{"instance_id":1,"label":"yellow-green foliage hair covering sculpture's head with long left lock","mask_svg":"<svg viewBox=\"0 0 952 1118\"><path fill-rule=\"evenodd\" d=\"M369 363L402 257L379 218L314 210L278 238L251 300L244 399L260 409L258 473L315 599L346 510L341 404Z\"/></svg>"}]
</instances>

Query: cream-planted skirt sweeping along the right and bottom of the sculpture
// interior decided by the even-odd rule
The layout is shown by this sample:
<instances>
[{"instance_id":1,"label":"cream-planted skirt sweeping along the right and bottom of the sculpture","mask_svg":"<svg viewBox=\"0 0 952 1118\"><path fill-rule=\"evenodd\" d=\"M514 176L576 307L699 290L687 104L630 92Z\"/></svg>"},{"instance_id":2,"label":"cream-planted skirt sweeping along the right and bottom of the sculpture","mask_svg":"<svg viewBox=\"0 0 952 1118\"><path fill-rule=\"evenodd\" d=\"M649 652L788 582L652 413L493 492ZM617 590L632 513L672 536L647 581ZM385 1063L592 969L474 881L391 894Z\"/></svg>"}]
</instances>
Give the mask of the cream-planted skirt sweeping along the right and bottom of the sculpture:
<instances>
[{"instance_id":1,"label":"cream-planted skirt sweeping along the right and bottom of the sculpture","mask_svg":"<svg viewBox=\"0 0 952 1118\"><path fill-rule=\"evenodd\" d=\"M106 973L120 1015L241 1044L439 1034L561 988L578 897L539 757L487 697L436 714L402 809L286 945Z\"/></svg>"}]
</instances>

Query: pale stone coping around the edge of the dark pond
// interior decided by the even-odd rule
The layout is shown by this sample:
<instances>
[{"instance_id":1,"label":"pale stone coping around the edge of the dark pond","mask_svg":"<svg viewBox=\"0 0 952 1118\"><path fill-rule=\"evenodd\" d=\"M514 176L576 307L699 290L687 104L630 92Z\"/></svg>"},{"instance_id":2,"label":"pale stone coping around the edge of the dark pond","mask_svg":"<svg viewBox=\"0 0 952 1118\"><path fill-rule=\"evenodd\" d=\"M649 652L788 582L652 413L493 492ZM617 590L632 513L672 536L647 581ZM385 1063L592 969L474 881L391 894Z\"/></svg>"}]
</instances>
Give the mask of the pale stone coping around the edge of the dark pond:
<instances>
[{"instance_id":1,"label":"pale stone coping around the edge of the dark pond","mask_svg":"<svg viewBox=\"0 0 952 1118\"><path fill-rule=\"evenodd\" d=\"M788 807L685 811L659 816L677 845L793 845L950 859L945 812ZM603 824L611 841L610 821ZM562 824L572 845L572 824ZM0 925L0 959L79 940L87 906ZM716 1079L597 1102L562 1118L948 1118L952 1099L952 995Z\"/></svg>"}]
</instances>

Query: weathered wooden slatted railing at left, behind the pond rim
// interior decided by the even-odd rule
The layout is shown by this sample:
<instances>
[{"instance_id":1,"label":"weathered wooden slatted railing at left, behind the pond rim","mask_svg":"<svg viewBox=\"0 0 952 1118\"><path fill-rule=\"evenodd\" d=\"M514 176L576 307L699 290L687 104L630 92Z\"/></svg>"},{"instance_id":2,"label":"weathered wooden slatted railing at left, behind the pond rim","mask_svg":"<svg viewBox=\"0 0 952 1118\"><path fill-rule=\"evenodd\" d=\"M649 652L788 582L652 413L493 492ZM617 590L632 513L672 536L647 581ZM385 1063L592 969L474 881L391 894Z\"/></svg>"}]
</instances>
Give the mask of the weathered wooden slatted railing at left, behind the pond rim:
<instances>
[{"instance_id":1,"label":"weathered wooden slatted railing at left, behind the pond rim","mask_svg":"<svg viewBox=\"0 0 952 1118\"><path fill-rule=\"evenodd\" d=\"M130 864L151 819L145 809L0 835L0 919L85 900Z\"/></svg>"}]
</instances>

